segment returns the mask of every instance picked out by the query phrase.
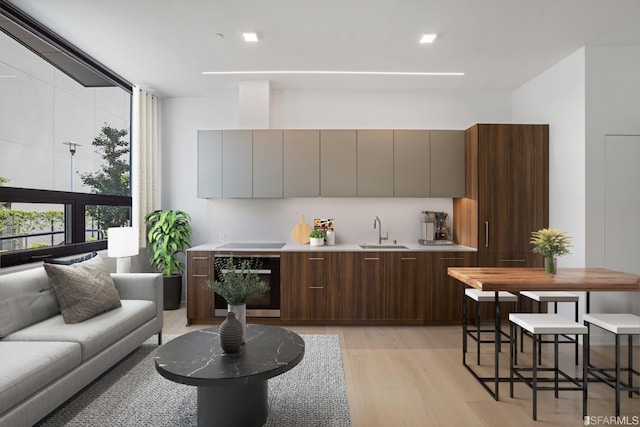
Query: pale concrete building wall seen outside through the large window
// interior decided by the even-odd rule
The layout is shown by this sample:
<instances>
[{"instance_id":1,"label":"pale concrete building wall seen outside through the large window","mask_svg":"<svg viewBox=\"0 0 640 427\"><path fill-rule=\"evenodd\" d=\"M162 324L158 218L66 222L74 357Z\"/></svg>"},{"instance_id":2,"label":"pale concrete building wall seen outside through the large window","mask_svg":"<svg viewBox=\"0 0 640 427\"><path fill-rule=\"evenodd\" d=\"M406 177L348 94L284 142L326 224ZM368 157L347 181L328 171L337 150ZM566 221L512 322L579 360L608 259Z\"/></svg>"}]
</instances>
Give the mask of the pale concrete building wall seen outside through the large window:
<instances>
[{"instance_id":1,"label":"pale concrete building wall seen outside through the large window","mask_svg":"<svg viewBox=\"0 0 640 427\"><path fill-rule=\"evenodd\" d=\"M12 187L71 189L71 158L64 141L82 144L79 174L95 172L102 158L93 139L107 122L129 128L130 95L119 88L85 88L0 32L0 176ZM82 188L74 174L76 191Z\"/></svg>"}]
</instances>

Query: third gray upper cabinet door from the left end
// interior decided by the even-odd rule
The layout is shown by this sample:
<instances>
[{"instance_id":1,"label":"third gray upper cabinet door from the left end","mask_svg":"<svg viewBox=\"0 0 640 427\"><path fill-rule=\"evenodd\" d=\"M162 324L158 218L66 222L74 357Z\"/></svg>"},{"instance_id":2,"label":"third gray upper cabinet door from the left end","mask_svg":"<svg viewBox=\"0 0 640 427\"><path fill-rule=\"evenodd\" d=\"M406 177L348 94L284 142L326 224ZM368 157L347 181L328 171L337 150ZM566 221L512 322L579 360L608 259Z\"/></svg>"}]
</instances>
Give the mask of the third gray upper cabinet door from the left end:
<instances>
[{"instance_id":1,"label":"third gray upper cabinet door from the left end","mask_svg":"<svg viewBox=\"0 0 640 427\"><path fill-rule=\"evenodd\" d=\"M253 197L282 195L282 130L254 130Z\"/></svg>"}]
</instances>

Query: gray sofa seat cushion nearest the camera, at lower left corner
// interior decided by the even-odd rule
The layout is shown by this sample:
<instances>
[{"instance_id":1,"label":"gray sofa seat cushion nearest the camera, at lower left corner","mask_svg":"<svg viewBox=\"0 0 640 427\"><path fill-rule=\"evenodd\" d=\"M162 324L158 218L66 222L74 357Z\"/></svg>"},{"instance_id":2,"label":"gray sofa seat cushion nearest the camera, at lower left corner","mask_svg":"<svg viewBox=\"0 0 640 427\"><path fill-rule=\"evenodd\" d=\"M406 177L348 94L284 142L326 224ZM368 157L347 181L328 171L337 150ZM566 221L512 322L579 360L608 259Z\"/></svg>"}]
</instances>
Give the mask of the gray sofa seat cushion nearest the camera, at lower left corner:
<instances>
[{"instance_id":1,"label":"gray sofa seat cushion nearest the camera, at lower left corner","mask_svg":"<svg viewBox=\"0 0 640 427\"><path fill-rule=\"evenodd\" d=\"M80 363L78 343L0 341L0 414Z\"/></svg>"}]
</instances>

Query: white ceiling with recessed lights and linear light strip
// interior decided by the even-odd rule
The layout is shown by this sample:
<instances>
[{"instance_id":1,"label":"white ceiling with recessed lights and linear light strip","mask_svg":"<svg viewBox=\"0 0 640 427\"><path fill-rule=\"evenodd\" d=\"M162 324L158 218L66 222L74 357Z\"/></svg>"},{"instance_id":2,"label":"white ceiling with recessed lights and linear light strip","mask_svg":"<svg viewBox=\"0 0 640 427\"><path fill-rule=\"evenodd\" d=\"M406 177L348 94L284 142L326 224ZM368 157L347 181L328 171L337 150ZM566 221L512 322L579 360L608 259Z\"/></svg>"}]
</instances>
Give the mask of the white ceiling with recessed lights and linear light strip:
<instances>
[{"instance_id":1,"label":"white ceiling with recessed lights and linear light strip","mask_svg":"<svg viewBox=\"0 0 640 427\"><path fill-rule=\"evenodd\" d=\"M583 46L640 46L638 0L10 0L162 97L274 89L511 91ZM242 31L257 31L248 44ZM438 33L421 45L422 33ZM218 34L222 35L220 37ZM463 72L463 76L203 75Z\"/></svg>"}]
</instances>

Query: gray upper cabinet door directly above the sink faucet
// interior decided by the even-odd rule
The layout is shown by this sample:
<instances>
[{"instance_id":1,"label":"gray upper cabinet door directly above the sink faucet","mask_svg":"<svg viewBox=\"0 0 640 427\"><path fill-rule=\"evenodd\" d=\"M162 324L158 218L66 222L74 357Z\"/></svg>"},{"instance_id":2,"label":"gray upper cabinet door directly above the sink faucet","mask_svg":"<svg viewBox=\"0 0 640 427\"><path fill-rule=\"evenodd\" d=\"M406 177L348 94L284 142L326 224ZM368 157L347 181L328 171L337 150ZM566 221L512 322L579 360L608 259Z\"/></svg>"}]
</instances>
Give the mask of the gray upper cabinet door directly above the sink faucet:
<instances>
[{"instance_id":1,"label":"gray upper cabinet door directly above the sink faucet","mask_svg":"<svg viewBox=\"0 0 640 427\"><path fill-rule=\"evenodd\" d=\"M393 131L358 130L358 196L393 197Z\"/></svg>"}]
</instances>

